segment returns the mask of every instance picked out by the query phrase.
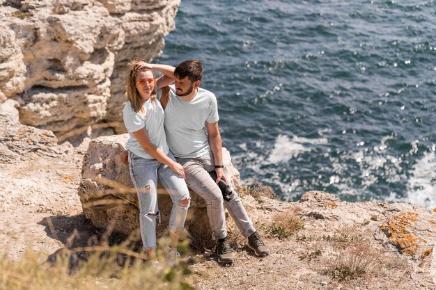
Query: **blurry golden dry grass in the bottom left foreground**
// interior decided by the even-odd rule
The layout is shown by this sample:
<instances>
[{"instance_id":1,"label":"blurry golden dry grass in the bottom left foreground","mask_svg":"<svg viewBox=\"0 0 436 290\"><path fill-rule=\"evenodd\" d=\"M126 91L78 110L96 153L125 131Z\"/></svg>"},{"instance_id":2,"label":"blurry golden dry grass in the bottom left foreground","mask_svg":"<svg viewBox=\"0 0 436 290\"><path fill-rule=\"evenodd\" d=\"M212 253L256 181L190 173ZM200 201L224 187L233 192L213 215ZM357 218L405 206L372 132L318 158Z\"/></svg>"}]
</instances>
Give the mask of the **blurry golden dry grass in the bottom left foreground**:
<instances>
[{"instance_id":1,"label":"blurry golden dry grass in the bottom left foreground","mask_svg":"<svg viewBox=\"0 0 436 290\"><path fill-rule=\"evenodd\" d=\"M162 260L159 269L119 247L93 250L86 261L77 261L74 251L43 263L31 250L17 261L0 257L0 289L192 289L183 281L182 266L171 268Z\"/></svg>"}]
</instances>

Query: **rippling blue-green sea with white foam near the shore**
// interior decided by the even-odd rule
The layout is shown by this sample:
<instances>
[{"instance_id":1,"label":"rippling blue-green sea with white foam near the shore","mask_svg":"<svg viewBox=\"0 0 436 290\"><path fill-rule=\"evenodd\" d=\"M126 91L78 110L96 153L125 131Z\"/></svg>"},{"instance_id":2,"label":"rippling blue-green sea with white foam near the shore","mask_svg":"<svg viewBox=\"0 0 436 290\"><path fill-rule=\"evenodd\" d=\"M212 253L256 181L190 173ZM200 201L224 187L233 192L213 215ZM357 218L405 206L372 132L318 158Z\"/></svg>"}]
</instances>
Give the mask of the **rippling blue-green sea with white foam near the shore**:
<instances>
[{"instance_id":1,"label":"rippling blue-green sea with white foam near the shore","mask_svg":"<svg viewBox=\"0 0 436 290\"><path fill-rule=\"evenodd\" d=\"M435 1L182 0L155 62L200 58L242 181L436 207Z\"/></svg>"}]
</instances>

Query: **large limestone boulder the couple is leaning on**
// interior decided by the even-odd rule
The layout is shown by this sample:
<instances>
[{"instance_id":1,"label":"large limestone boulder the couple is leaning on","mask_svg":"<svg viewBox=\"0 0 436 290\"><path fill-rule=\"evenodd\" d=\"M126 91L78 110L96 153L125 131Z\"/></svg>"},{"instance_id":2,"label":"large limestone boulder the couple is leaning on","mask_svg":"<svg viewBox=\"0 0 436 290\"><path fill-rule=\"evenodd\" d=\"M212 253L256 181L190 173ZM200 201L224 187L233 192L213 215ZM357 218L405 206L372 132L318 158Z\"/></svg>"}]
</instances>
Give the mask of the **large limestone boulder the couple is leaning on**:
<instances>
[{"instance_id":1,"label":"large limestone boulder the couple is leaning on","mask_svg":"<svg viewBox=\"0 0 436 290\"><path fill-rule=\"evenodd\" d=\"M84 156L79 185L79 197L84 214L93 224L111 231L130 234L139 227L139 207L128 167L121 161L127 134L102 136L91 140ZM240 176L228 151L223 148L223 159L233 186L240 186ZM169 222L172 201L162 187L158 189L159 211L164 230ZM186 228L194 239L210 241L211 230L205 202L196 193L191 194Z\"/></svg>"}]
</instances>

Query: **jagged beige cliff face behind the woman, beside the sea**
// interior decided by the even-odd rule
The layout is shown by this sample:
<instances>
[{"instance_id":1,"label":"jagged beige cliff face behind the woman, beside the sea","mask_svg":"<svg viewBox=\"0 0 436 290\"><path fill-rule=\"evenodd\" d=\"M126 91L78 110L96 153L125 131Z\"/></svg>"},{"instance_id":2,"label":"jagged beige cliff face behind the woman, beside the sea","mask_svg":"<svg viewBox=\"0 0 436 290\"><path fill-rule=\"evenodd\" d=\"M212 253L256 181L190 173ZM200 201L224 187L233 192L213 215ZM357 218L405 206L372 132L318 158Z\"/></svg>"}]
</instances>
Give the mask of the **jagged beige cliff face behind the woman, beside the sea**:
<instances>
[{"instance_id":1,"label":"jagged beige cliff face behind the woman, beside the sea","mask_svg":"<svg viewBox=\"0 0 436 290\"><path fill-rule=\"evenodd\" d=\"M160 54L179 4L0 1L0 102L17 100L22 124L58 136L122 121L127 61Z\"/></svg>"}]
</instances>

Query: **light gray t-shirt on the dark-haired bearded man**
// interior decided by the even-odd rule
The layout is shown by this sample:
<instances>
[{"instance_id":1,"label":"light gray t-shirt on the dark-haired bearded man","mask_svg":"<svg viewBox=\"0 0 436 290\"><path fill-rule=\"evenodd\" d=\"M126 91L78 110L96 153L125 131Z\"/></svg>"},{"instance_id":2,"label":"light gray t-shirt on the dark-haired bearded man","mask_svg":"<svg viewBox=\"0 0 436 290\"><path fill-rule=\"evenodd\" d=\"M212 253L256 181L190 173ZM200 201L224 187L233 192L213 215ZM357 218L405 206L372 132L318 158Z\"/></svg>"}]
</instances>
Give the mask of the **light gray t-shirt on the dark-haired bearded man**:
<instances>
[{"instance_id":1,"label":"light gray t-shirt on the dark-haired bearded man","mask_svg":"<svg viewBox=\"0 0 436 290\"><path fill-rule=\"evenodd\" d=\"M178 158L197 158L210 150L206 122L218 122L217 98L212 92L198 88L194 99L186 102L169 86L165 108L165 131L171 152Z\"/></svg>"}]
</instances>

